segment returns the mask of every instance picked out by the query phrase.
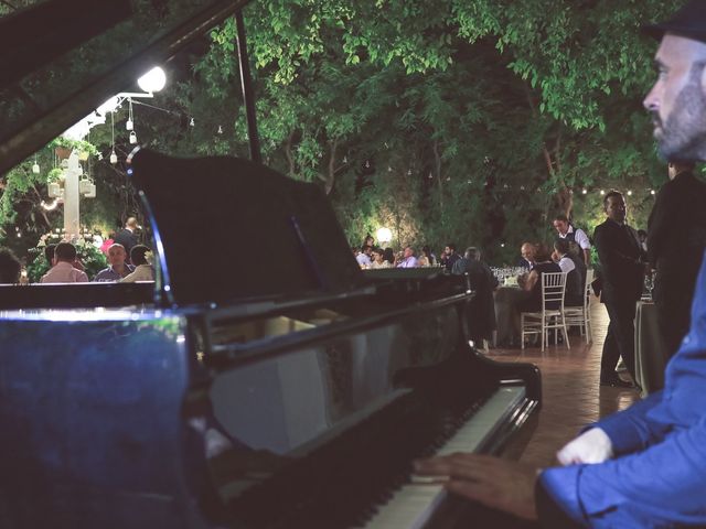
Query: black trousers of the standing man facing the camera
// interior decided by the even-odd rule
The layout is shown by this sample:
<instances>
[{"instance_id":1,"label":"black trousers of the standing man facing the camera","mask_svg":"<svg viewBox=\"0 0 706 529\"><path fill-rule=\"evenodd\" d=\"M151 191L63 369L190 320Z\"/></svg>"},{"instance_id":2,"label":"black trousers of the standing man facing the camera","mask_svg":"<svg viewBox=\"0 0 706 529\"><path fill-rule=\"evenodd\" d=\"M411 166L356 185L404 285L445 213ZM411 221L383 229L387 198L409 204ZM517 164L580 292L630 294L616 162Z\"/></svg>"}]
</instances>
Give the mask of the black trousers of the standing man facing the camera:
<instances>
[{"instance_id":1,"label":"black trousers of the standing man facing the camera","mask_svg":"<svg viewBox=\"0 0 706 529\"><path fill-rule=\"evenodd\" d=\"M634 301L606 302L610 324L600 358L600 378L609 380L616 375L618 359L622 356L630 376L635 378L635 310Z\"/></svg>"}]
</instances>

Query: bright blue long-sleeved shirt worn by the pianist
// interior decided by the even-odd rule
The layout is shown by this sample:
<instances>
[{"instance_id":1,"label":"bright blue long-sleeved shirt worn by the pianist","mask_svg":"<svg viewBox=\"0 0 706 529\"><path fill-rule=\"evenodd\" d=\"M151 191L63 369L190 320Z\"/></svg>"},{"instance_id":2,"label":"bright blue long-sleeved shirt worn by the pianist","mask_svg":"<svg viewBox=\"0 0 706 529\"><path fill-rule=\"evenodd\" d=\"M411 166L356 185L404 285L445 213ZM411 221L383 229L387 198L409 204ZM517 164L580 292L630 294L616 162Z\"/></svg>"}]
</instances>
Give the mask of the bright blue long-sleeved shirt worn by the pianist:
<instances>
[{"instance_id":1,"label":"bright blue long-sleeved shirt worn by the pianist","mask_svg":"<svg viewBox=\"0 0 706 529\"><path fill-rule=\"evenodd\" d=\"M706 525L706 262L664 390L596 425L610 438L613 460L541 476L574 520L597 528Z\"/></svg>"}]
</instances>

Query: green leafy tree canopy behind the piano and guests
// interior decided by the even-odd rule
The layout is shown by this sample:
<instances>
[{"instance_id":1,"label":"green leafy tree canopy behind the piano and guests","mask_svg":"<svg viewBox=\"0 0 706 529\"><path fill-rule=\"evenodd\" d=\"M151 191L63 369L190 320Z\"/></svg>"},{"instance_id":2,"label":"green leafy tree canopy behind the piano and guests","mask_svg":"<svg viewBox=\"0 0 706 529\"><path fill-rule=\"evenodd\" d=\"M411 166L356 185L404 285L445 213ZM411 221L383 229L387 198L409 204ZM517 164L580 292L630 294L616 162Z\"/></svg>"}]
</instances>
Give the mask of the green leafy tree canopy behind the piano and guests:
<instances>
[{"instance_id":1,"label":"green leafy tree canopy behind the piano and guests","mask_svg":"<svg viewBox=\"0 0 706 529\"><path fill-rule=\"evenodd\" d=\"M666 171L641 105L656 43L640 28L682 3L250 2L264 159L320 183L352 244L387 226L397 247L453 240L510 262L557 213L592 228L611 187L634 192L641 227ZM235 34L227 21L181 61L148 145L247 155ZM18 171L0 207L30 190Z\"/></svg>"}]
</instances>

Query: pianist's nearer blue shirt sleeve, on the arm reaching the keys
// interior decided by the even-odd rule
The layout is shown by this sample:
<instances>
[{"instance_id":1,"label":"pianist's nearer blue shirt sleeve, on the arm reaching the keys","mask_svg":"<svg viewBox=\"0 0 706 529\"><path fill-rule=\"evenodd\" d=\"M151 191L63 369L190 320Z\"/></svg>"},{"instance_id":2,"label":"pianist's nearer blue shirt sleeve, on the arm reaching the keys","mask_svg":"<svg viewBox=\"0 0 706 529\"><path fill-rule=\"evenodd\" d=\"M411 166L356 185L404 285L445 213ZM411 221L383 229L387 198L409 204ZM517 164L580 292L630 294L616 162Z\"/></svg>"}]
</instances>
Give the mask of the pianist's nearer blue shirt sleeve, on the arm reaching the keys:
<instances>
[{"instance_id":1,"label":"pianist's nearer blue shirt sleeve, on the arm reaching the keys","mask_svg":"<svg viewBox=\"0 0 706 529\"><path fill-rule=\"evenodd\" d=\"M706 523L706 415L644 451L539 479L573 520L591 527Z\"/></svg>"}]
</instances>

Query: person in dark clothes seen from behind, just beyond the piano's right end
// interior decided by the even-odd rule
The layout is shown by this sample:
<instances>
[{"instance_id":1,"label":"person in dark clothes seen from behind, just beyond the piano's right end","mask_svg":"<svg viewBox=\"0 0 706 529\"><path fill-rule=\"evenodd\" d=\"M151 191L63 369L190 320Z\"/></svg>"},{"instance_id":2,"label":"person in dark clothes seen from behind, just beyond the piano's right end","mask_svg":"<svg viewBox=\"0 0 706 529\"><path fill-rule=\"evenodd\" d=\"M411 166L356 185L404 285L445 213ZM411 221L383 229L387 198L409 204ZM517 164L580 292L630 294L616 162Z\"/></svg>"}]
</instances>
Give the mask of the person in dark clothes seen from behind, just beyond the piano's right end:
<instances>
[{"instance_id":1,"label":"person in dark clothes seen from behind, just beyond the piano's right end","mask_svg":"<svg viewBox=\"0 0 706 529\"><path fill-rule=\"evenodd\" d=\"M483 339L490 341L495 331L495 301L493 290L498 287L498 278L481 261L478 248L469 247L463 257L453 263L451 273L468 273L469 283L475 295L468 303L468 325L470 337L482 346Z\"/></svg>"}]
</instances>

